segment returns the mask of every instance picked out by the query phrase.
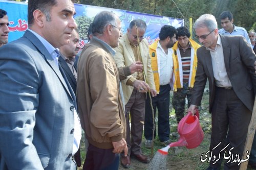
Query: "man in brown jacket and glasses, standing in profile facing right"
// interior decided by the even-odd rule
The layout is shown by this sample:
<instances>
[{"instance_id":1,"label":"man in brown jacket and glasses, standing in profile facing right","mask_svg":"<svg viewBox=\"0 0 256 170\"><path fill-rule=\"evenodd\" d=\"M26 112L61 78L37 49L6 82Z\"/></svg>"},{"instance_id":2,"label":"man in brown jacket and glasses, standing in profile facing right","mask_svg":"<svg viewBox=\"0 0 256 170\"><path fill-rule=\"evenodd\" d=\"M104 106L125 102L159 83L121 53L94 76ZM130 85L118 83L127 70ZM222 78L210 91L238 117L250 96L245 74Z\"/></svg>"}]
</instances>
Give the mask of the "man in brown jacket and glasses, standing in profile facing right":
<instances>
[{"instance_id":1,"label":"man in brown jacket and glasses, standing in profile facing right","mask_svg":"<svg viewBox=\"0 0 256 170\"><path fill-rule=\"evenodd\" d=\"M77 100L89 141L83 169L118 169L120 153L127 155L123 96L113 59L120 30L121 22L114 13L97 14L92 22L93 38L79 57Z\"/></svg>"}]
</instances>

